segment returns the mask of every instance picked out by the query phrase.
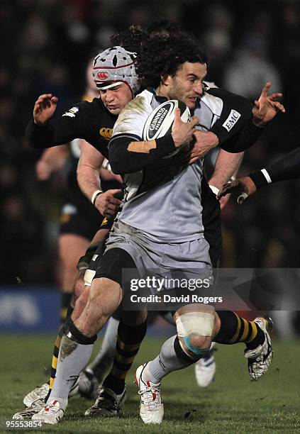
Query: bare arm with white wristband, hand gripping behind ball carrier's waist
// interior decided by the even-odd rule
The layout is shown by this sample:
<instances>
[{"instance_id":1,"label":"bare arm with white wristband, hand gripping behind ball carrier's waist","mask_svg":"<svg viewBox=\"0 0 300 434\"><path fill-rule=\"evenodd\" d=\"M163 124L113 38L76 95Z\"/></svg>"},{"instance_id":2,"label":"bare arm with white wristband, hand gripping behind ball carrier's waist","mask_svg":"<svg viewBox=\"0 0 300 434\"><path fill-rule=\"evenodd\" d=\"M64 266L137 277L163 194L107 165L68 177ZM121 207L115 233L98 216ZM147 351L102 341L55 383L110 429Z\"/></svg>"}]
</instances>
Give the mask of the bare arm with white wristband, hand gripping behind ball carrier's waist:
<instances>
[{"instance_id":1,"label":"bare arm with white wristband, hand gripping behind ball carrier's waist","mask_svg":"<svg viewBox=\"0 0 300 434\"><path fill-rule=\"evenodd\" d=\"M101 152L85 140L80 140L80 158L77 167L79 187L102 216L110 217L116 213L121 204L121 200L116 199L114 194L120 194L122 190L113 189L103 193L99 178L99 169L103 162L104 156Z\"/></svg>"}]
</instances>

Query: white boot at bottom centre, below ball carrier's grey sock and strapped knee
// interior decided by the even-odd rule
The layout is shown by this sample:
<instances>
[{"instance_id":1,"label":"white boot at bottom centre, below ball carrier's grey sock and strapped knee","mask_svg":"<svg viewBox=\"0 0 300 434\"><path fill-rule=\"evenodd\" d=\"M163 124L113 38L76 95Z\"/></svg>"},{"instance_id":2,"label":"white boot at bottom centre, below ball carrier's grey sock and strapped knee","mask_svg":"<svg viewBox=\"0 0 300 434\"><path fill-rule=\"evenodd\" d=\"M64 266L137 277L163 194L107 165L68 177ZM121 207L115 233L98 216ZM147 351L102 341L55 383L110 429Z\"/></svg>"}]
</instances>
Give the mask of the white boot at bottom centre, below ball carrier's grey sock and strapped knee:
<instances>
[{"instance_id":1,"label":"white boot at bottom centre, below ball carrier's grey sock and strapped knee","mask_svg":"<svg viewBox=\"0 0 300 434\"><path fill-rule=\"evenodd\" d=\"M162 423L164 404L160 396L160 383L152 383L143 375L147 365L141 365L135 372L135 383L140 394L140 417L143 423Z\"/></svg>"}]
</instances>

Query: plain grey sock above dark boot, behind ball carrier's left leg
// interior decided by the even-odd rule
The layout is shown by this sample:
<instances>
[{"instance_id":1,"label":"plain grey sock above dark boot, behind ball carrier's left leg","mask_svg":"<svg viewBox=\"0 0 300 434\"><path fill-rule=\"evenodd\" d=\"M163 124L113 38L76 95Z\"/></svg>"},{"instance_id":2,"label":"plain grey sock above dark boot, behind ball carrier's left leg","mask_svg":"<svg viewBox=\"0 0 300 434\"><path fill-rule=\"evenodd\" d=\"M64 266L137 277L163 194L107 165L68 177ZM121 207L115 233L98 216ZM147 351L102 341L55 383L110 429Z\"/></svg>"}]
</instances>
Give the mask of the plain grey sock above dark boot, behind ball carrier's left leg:
<instances>
[{"instance_id":1,"label":"plain grey sock above dark boot, behind ball carrier's left leg","mask_svg":"<svg viewBox=\"0 0 300 434\"><path fill-rule=\"evenodd\" d=\"M118 323L119 321L115 318L109 318L99 353L88 366L94 372L100 384L103 382L106 372L113 365L118 337Z\"/></svg>"}]
</instances>

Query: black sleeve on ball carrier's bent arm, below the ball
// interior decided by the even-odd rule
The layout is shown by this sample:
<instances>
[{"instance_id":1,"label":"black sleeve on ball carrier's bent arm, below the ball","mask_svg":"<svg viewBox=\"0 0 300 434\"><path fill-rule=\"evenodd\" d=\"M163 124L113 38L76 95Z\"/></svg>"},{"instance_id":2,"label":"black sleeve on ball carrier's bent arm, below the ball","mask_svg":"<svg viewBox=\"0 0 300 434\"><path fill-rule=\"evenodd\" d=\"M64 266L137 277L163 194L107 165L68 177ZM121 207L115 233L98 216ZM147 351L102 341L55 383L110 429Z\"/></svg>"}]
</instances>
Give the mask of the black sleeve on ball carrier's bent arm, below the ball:
<instances>
[{"instance_id":1,"label":"black sleeve on ball carrier's bent arm, below the ball","mask_svg":"<svg viewBox=\"0 0 300 434\"><path fill-rule=\"evenodd\" d=\"M151 140L151 142L156 143L156 145L149 152L133 152L128 150L130 143L136 143L136 145L140 143L142 145L143 143L150 142L143 142L137 135L120 134L113 137L109 142L109 162L113 173L127 174L137 172L176 150L172 135L170 134L156 140Z\"/></svg>"}]
</instances>

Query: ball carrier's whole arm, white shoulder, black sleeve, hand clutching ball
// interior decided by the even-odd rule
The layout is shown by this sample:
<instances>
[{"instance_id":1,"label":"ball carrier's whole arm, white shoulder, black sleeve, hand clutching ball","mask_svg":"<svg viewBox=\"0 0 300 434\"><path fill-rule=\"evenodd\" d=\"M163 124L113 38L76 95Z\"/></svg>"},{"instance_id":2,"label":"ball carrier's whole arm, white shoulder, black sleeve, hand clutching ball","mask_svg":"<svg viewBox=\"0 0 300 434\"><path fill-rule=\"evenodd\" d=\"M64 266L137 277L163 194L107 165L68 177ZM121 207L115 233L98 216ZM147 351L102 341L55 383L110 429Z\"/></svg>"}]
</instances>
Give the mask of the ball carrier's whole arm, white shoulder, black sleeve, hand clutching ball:
<instances>
[{"instance_id":1,"label":"ball carrier's whole arm, white shoulder, black sleeve, hand clutching ball","mask_svg":"<svg viewBox=\"0 0 300 434\"><path fill-rule=\"evenodd\" d=\"M143 111L143 107L136 104L136 100L138 98L130 101L120 113L113 128L113 138L109 142L109 162L116 174L137 172L177 148L189 144L198 123L196 118L190 123L182 122L179 109L176 109L172 133L156 140L145 141L142 138L143 127L150 112ZM140 102L143 104L142 99Z\"/></svg>"}]
</instances>

